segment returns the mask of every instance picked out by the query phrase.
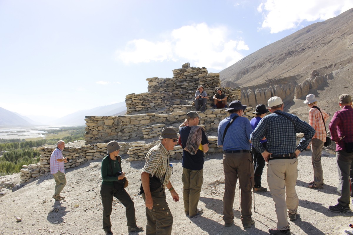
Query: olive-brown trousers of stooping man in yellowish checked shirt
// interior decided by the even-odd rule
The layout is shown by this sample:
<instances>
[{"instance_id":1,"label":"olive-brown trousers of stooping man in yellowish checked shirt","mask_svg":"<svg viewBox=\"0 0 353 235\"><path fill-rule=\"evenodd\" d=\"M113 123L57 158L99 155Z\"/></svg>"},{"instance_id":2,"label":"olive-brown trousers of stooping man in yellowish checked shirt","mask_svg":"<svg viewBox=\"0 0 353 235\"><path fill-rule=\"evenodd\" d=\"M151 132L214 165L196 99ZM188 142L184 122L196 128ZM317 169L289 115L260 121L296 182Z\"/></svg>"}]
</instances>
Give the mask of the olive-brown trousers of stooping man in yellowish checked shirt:
<instances>
[{"instance_id":1,"label":"olive-brown trousers of stooping man in yellowish checked shirt","mask_svg":"<svg viewBox=\"0 0 353 235\"><path fill-rule=\"evenodd\" d=\"M158 188L151 193L153 199L152 210L146 208L146 235L170 235L172 234L173 216L170 213L166 201L166 191L164 188ZM142 193L143 200L146 196Z\"/></svg>"}]
</instances>

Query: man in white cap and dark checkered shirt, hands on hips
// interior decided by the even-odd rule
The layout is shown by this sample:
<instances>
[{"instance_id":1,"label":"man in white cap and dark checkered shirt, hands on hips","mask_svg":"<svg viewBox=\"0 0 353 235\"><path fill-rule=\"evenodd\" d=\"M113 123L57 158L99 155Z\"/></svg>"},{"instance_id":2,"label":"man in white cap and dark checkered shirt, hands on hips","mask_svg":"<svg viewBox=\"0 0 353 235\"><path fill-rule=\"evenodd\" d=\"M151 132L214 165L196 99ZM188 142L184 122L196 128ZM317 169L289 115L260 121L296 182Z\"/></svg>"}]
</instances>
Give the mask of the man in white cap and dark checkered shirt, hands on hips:
<instances>
[{"instance_id":1,"label":"man in white cap and dark checkered shirt, hands on hips","mask_svg":"<svg viewBox=\"0 0 353 235\"><path fill-rule=\"evenodd\" d=\"M297 219L299 199L295 192L298 178L297 156L306 149L315 130L297 116L283 112L283 102L278 96L268 102L270 115L261 119L251 134L253 146L262 154L266 162L267 183L275 202L277 228L269 229L272 235L290 235L288 216L291 221ZM297 145L296 133L304 133ZM266 149L260 140L266 137Z\"/></svg>"}]
</instances>

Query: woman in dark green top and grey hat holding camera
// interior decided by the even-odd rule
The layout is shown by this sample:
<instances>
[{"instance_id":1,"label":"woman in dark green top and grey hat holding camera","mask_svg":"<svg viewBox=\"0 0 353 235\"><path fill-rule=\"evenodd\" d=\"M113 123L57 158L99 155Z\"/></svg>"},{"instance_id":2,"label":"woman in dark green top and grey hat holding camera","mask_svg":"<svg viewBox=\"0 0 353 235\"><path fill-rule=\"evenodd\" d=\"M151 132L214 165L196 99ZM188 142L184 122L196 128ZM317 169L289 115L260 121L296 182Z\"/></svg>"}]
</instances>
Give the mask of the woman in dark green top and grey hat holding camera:
<instances>
[{"instance_id":1,"label":"woman in dark green top and grey hat holding camera","mask_svg":"<svg viewBox=\"0 0 353 235\"><path fill-rule=\"evenodd\" d=\"M125 191L125 172L121 169L121 157L119 156L120 145L116 141L107 144L108 155L102 160L102 186L101 196L103 205L103 229L106 235L113 235L110 228L110 215L112 214L113 196L125 206L127 229L129 232L142 231L143 227L136 225L135 207Z\"/></svg>"}]
</instances>

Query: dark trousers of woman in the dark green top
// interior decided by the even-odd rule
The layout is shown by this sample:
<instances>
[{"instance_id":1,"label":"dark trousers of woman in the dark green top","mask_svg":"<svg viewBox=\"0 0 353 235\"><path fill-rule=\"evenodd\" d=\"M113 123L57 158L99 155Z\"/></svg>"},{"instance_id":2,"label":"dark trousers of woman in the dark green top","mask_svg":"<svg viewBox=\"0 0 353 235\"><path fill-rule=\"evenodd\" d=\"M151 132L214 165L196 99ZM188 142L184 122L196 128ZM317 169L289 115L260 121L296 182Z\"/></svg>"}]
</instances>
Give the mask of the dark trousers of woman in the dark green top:
<instances>
[{"instance_id":1,"label":"dark trousers of woman in the dark green top","mask_svg":"<svg viewBox=\"0 0 353 235\"><path fill-rule=\"evenodd\" d=\"M114 186L102 184L101 196L103 205L103 229L105 232L110 231L110 227L112 227L112 223L110 223L110 215L112 214L113 197L118 198L125 206L127 226L136 226L135 206L123 186L116 189Z\"/></svg>"}]
</instances>

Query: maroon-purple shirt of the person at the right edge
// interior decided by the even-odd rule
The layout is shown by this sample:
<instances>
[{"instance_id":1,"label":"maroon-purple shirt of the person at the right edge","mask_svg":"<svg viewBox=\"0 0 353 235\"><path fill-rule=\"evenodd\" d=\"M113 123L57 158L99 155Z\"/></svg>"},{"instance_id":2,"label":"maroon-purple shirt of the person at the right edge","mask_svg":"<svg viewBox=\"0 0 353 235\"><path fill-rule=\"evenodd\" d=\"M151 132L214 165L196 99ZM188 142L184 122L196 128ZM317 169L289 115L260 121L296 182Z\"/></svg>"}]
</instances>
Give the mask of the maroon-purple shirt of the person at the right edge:
<instances>
[{"instance_id":1,"label":"maroon-purple shirt of the person at the right edge","mask_svg":"<svg viewBox=\"0 0 353 235\"><path fill-rule=\"evenodd\" d=\"M331 140L336 142L336 151L346 150L345 142L340 137L345 136L346 142L353 142L353 109L346 105L335 112L329 124Z\"/></svg>"}]
</instances>

